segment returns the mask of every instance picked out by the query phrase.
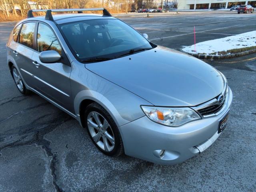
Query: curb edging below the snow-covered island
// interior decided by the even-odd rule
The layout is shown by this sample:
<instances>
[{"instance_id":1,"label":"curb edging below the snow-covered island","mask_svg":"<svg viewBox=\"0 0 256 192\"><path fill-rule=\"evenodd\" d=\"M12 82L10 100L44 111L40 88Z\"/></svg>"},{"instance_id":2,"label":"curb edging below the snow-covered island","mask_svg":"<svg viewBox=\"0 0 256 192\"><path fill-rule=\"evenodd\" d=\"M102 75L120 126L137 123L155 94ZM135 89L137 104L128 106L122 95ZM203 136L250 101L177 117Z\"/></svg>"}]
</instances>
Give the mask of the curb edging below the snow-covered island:
<instances>
[{"instance_id":1,"label":"curb edging below the snow-covered island","mask_svg":"<svg viewBox=\"0 0 256 192\"><path fill-rule=\"evenodd\" d=\"M194 53L188 53L188 52L184 52L184 53L192 55L198 59L219 60L219 59L234 58L234 57L240 57L243 55L256 53L256 49L247 50L239 53L226 54L226 55L204 55L204 54L194 54Z\"/></svg>"}]
</instances>

